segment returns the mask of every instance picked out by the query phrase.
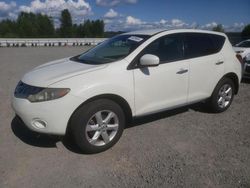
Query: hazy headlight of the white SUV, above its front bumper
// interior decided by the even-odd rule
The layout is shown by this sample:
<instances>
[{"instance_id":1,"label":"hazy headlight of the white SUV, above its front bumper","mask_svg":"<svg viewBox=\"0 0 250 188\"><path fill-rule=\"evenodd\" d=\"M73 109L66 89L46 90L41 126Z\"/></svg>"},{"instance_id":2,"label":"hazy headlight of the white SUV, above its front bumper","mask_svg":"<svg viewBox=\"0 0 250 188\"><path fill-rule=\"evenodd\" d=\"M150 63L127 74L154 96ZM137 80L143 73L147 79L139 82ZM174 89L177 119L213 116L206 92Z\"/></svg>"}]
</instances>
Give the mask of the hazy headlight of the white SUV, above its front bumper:
<instances>
[{"instance_id":1,"label":"hazy headlight of the white SUV, above its front bumper","mask_svg":"<svg viewBox=\"0 0 250 188\"><path fill-rule=\"evenodd\" d=\"M61 98L69 93L69 88L44 88L42 91L27 97L30 102L43 102Z\"/></svg>"}]
</instances>

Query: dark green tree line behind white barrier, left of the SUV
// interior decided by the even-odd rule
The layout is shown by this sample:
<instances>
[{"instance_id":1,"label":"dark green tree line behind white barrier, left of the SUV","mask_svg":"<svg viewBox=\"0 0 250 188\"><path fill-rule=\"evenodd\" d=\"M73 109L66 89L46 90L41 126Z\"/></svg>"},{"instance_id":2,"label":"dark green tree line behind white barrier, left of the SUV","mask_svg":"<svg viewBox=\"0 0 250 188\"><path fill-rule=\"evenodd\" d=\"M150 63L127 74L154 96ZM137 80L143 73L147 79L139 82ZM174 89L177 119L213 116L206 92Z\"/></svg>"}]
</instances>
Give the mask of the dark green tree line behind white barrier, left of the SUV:
<instances>
[{"instance_id":1,"label":"dark green tree line behind white barrier, left of the SUV","mask_svg":"<svg viewBox=\"0 0 250 188\"><path fill-rule=\"evenodd\" d=\"M84 38L103 37L103 20L86 20L73 24L70 12L61 12L60 27L55 28L51 17L45 14L21 12L16 20L0 22L0 37L3 38Z\"/></svg>"}]
</instances>

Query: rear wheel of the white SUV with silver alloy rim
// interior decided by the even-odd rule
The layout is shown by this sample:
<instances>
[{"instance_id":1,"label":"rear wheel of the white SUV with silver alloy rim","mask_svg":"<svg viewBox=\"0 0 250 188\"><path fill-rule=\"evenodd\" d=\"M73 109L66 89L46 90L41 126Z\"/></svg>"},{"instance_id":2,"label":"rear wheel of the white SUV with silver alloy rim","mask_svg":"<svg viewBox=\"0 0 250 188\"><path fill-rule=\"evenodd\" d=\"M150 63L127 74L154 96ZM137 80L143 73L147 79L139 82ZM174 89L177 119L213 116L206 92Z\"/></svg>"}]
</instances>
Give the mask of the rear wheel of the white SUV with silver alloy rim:
<instances>
[{"instance_id":1,"label":"rear wheel of the white SUV with silver alloy rim","mask_svg":"<svg viewBox=\"0 0 250 188\"><path fill-rule=\"evenodd\" d=\"M211 112L221 113L226 111L234 98L235 85L230 78L223 78L216 85L212 96L208 100Z\"/></svg>"}]
</instances>

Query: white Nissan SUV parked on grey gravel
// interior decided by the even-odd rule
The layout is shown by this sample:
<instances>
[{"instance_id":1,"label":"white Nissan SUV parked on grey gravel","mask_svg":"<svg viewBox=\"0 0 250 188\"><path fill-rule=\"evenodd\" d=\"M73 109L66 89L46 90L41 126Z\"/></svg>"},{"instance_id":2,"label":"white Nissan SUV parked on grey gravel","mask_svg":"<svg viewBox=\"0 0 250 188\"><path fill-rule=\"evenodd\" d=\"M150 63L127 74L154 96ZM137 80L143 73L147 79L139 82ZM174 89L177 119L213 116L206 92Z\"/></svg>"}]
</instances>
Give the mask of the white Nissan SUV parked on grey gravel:
<instances>
[{"instance_id":1,"label":"white Nissan SUV parked on grey gravel","mask_svg":"<svg viewBox=\"0 0 250 188\"><path fill-rule=\"evenodd\" d=\"M96 153L113 146L132 117L199 101L225 111L241 72L224 34L136 31L33 69L17 85L12 106L31 130L70 132L81 150Z\"/></svg>"}]
</instances>

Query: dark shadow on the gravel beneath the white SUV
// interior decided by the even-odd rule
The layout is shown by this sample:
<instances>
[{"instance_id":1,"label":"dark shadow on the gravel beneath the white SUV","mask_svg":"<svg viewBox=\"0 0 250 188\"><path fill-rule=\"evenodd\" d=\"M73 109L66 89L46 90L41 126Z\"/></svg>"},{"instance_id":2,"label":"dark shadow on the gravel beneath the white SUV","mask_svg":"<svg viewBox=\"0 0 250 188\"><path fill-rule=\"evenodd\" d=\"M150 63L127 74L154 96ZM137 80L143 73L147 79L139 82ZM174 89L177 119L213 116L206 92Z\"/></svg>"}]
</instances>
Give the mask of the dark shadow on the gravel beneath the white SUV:
<instances>
[{"instance_id":1,"label":"dark shadow on the gravel beneath the white SUV","mask_svg":"<svg viewBox=\"0 0 250 188\"><path fill-rule=\"evenodd\" d=\"M198 103L191 106L181 107L174 110L168 110L152 115L135 118L130 123L128 123L126 129L136 126L149 125L151 122L187 112L189 109L207 113L207 111L203 108L203 105L201 103ZM28 145L41 148L56 148L56 144L58 142L62 142L63 145L71 152L78 154L86 154L79 150L79 148L74 144L73 140L69 135L63 137L55 135L46 135L31 131L25 126L23 121L18 116L15 116L13 118L11 122L11 129L16 137L18 137L22 142Z\"/></svg>"}]
</instances>

